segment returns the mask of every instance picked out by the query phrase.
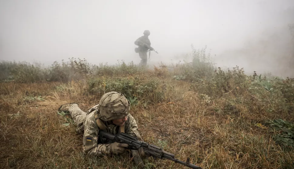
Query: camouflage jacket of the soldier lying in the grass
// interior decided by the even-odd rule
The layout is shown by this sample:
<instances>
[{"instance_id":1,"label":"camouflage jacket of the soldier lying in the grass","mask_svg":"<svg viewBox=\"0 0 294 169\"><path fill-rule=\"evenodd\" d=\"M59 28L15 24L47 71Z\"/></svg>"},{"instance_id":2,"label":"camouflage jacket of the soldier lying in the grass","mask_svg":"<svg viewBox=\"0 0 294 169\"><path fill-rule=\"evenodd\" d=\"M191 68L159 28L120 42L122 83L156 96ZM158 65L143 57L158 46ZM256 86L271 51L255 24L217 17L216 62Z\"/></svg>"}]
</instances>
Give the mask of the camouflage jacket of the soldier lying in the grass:
<instances>
[{"instance_id":1,"label":"camouflage jacket of the soldier lying in the grass","mask_svg":"<svg viewBox=\"0 0 294 169\"><path fill-rule=\"evenodd\" d=\"M101 144L98 142L99 137L99 127L95 120L95 113L97 110L91 112L91 109L87 112L86 119L84 122L84 138L83 138L83 150L89 155L99 155L99 154L110 154L109 148L110 144ZM127 121L125 122L125 133L131 134L142 140L139 132L138 125L132 115L127 115ZM109 129L112 134L119 133L119 126L114 125L112 122L102 121L104 125Z\"/></svg>"}]
</instances>

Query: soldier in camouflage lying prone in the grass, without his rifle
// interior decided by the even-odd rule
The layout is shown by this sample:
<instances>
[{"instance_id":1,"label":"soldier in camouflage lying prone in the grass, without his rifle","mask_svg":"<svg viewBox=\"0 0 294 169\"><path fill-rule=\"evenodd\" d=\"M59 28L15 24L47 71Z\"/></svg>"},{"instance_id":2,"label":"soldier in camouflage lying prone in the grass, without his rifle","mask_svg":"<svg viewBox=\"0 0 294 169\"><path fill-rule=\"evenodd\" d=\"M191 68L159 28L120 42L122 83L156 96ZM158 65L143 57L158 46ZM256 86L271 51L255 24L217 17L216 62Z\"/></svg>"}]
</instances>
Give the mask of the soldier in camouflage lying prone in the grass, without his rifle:
<instances>
[{"instance_id":1,"label":"soldier in camouflage lying prone in the grass, without his rifle","mask_svg":"<svg viewBox=\"0 0 294 169\"><path fill-rule=\"evenodd\" d=\"M78 133L84 134L83 150L88 155L115 154L120 155L126 151L128 144L103 144L99 139L99 131L112 134L125 132L142 140L138 125L130 112L130 103L125 96L118 92L105 93L98 105L93 106L87 113L83 112L78 104L70 103L60 106L60 112L69 112ZM131 150L136 165L144 167L142 158L150 157L143 148Z\"/></svg>"}]
</instances>

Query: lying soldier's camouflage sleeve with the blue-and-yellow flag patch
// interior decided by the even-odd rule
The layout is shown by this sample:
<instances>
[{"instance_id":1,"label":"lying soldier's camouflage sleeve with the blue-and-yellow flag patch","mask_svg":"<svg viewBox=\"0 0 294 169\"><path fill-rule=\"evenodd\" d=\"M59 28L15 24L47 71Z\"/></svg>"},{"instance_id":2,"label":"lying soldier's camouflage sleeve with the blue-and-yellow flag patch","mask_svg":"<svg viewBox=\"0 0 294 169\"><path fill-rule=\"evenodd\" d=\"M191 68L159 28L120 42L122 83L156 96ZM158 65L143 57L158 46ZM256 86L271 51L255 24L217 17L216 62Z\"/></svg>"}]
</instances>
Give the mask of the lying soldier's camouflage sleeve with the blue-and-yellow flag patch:
<instances>
[{"instance_id":1,"label":"lying soldier's camouflage sleeve with the blue-and-yellow flag patch","mask_svg":"<svg viewBox=\"0 0 294 169\"><path fill-rule=\"evenodd\" d=\"M110 154L109 144L98 144L98 133L99 128L92 112L84 123L83 150L89 155Z\"/></svg>"}]
</instances>

